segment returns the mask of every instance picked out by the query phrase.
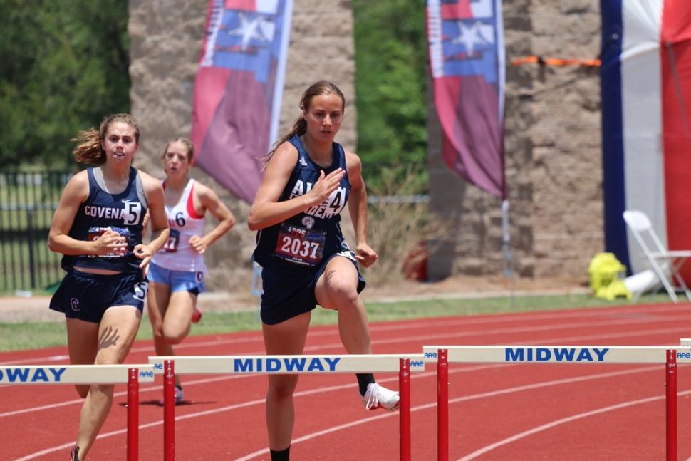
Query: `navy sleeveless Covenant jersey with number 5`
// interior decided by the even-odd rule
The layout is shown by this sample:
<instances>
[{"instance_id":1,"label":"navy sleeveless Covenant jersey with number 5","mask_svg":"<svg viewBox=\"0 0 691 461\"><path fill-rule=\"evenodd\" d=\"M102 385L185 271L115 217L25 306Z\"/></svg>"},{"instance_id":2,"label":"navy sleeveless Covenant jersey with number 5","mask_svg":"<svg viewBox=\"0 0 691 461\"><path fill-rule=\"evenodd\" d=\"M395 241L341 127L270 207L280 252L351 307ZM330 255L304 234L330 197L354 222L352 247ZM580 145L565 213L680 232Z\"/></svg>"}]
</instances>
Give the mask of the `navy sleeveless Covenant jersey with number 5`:
<instances>
[{"instance_id":1,"label":"navy sleeveless Covenant jersey with number 5","mask_svg":"<svg viewBox=\"0 0 691 461\"><path fill-rule=\"evenodd\" d=\"M65 255L62 267L71 271L73 266L93 269L110 269L120 272L140 271L141 259L135 257L133 249L142 243L142 222L147 204L137 195L137 170L130 167L130 179L120 194L109 194L101 189L93 176L93 168L86 170L89 177L89 196L80 204L70 237L76 240L94 240L110 227L127 238L127 245L109 254L99 256Z\"/></svg>"}]
</instances>

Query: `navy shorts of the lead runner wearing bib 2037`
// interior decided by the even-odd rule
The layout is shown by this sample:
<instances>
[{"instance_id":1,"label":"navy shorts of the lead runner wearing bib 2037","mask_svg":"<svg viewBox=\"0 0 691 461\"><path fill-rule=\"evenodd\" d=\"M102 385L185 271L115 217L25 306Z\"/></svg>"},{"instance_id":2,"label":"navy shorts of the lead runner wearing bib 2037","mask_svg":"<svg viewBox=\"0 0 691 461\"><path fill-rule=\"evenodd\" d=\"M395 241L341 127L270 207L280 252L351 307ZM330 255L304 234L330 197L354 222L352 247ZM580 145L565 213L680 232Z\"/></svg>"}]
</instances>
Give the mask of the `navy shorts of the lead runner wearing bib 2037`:
<instances>
[{"instance_id":1,"label":"navy shorts of the lead runner wearing bib 2037","mask_svg":"<svg viewBox=\"0 0 691 461\"><path fill-rule=\"evenodd\" d=\"M314 309L317 306L317 299L314 296L317 280L326 269L328 261L339 255L333 254L308 272L272 274L262 269L261 287L264 291L261 293L261 309L259 310L261 321L266 325L276 325ZM355 264L355 269L358 269L355 261L350 258L348 260ZM365 289L365 279L358 269L358 294L363 289Z\"/></svg>"}]
</instances>

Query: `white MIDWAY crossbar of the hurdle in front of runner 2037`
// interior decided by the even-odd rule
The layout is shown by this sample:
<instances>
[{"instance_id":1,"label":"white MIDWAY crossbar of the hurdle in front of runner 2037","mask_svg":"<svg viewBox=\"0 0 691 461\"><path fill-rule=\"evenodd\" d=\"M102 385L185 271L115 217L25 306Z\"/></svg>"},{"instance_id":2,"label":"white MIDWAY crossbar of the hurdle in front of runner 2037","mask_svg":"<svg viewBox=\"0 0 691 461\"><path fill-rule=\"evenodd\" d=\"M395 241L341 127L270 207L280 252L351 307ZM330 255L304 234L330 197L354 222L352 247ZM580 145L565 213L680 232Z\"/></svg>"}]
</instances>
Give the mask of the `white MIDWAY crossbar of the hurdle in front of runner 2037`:
<instances>
[{"instance_id":1,"label":"white MIDWAY crossbar of the hurdle in front of runner 2037","mask_svg":"<svg viewBox=\"0 0 691 461\"><path fill-rule=\"evenodd\" d=\"M176 374L207 373L368 373L396 372L397 355L348 354L342 356L170 356L149 357L155 373L165 373L172 361ZM410 358L410 371L425 371L421 354Z\"/></svg>"}]
</instances>

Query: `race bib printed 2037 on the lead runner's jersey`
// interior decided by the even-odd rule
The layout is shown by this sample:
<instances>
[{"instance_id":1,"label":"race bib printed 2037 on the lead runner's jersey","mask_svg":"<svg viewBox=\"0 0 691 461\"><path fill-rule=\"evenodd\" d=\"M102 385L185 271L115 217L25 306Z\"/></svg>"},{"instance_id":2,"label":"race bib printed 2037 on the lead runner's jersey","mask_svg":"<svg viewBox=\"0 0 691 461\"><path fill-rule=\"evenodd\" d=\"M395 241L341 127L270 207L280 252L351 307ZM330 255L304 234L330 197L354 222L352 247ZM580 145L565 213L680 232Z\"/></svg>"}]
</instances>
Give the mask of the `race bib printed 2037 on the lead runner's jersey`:
<instances>
[{"instance_id":1,"label":"race bib printed 2037 on the lead runner's jersey","mask_svg":"<svg viewBox=\"0 0 691 461\"><path fill-rule=\"evenodd\" d=\"M325 240L325 232L283 224L276 242L276 256L295 264L316 266L321 261Z\"/></svg>"}]
</instances>

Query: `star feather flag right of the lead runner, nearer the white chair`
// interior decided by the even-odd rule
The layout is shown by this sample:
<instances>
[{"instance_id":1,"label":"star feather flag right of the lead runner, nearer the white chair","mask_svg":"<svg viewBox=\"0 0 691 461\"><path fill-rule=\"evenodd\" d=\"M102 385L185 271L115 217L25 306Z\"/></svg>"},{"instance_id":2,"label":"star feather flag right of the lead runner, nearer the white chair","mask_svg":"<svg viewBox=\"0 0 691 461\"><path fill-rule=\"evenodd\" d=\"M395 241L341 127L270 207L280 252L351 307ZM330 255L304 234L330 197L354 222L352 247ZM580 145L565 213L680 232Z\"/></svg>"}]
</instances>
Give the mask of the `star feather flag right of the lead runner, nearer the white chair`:
<instances>
[{"instance_id":1,"label":"star feather flag right of the lead runner, nearer the white chair","mask_svg":"<svg viewBox=\"0 0 691 461\"><path fill-rule=\"evenodd\" d=\"M427 43L444 161L506 198L502 1L427 0Z\"/></svg>"}]
</instances>

